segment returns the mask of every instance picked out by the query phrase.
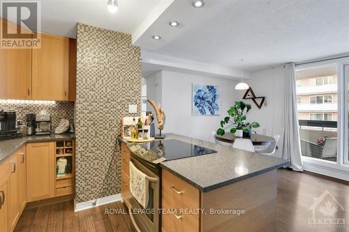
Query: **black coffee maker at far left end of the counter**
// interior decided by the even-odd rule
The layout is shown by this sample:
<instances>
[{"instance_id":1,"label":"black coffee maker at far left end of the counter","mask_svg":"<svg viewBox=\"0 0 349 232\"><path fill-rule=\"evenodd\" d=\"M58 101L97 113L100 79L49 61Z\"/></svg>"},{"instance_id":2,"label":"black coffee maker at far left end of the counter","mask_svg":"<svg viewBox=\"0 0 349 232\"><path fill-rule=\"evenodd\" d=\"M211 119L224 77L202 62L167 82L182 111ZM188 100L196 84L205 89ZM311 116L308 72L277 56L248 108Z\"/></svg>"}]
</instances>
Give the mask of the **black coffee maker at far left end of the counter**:
<instances>
[{"instance_id":1,"label":"black coffee maker at far left end of the counter","mask_svg":"<svg viewBox=\"0 0 349 232\"><path fill-rule=\"evenodd\" d=\"M18 137L16 128L16 112L15 109L0 110L0 139L10 139Z\"/></svg>"}]
</instances>

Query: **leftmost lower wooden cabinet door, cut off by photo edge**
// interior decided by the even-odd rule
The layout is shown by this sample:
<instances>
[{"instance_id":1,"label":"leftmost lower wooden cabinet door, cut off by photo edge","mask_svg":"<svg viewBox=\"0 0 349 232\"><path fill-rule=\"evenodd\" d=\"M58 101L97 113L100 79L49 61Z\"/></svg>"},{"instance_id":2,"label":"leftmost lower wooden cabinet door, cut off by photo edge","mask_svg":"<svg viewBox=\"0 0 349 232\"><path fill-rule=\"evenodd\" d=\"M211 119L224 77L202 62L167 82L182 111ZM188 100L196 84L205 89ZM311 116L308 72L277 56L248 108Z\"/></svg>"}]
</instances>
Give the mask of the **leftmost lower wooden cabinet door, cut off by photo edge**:
<instances>
[{"instance_id":1,"label":"leftmost lower wooden cabinet door, cut off by photo edge","mask_svg":"<svg viewBox=\"0 0 349 232\"><path fill-rule=\"evenodd\" d=\"M9 176L10 163L9 159L0 162L0 231L9 231L8 226L8 207L9 207Z\"/></svg>"}]
</instances>

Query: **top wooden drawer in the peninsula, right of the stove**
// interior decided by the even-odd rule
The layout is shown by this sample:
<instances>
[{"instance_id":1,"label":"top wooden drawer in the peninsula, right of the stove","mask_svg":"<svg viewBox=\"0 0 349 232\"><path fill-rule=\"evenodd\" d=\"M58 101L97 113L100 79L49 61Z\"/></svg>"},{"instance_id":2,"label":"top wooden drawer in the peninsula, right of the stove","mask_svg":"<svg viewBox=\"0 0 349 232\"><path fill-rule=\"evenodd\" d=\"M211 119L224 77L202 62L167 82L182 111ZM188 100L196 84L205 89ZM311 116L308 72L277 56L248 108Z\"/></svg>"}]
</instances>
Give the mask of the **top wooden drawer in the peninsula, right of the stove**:
<instances>
[{"instance_id":1,"label":"top wooden drawer in the peninsula, right of the stove","mask_svg":"<svg viewBox=\"0 0 349 232\"><path fill-rule=\"evenodd\" d=\"M172 173L163 170L163 192L166 191L169 195L174 196L174 199L184 203L186 208L199 208L200 192L195 187L189 185L183 180L177 178Z\"/></svg>"}]
</instances>

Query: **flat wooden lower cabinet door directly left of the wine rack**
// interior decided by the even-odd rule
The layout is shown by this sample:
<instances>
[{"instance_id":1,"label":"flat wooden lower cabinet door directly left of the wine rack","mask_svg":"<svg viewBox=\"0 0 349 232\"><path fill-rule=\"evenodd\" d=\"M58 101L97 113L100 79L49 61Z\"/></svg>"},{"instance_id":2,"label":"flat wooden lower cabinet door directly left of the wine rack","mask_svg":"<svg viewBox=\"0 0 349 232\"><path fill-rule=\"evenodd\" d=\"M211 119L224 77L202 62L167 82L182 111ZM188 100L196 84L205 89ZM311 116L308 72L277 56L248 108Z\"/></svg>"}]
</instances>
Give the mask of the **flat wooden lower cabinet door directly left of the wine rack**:
<instances>
[{"instance_id":1,"label":"flat wooden lower cabinet door directly left of the wine rack","mask_svg":"<svg viewBox=\"0 0 349 232\"><path fill-rule=\"evenodd\" d=\"M54 197L54 142L27 144L27 201Z\"/></svg>"}]
</instances>

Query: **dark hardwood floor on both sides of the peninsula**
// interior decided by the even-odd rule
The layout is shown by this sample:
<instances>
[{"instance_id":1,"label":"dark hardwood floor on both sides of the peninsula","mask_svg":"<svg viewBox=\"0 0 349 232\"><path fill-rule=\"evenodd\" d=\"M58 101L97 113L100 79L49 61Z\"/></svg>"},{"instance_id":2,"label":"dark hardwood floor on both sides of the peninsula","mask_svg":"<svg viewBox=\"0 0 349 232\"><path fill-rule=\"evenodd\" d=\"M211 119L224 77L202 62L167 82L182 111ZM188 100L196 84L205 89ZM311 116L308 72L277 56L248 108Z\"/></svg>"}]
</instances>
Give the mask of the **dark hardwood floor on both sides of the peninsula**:
<instances>
[{"instance_id":1,"label":"dark hardwood floor on both sides of the peninsula","mask_svg":"<svg viewBox=\"0 0 349 232\"><path fill-rule=\"evenodd\" d=\"M309 207L313 204L314 197L320 196L325 190L328 190L345 210L349 210L348 183L337 182L310 173L280 169L278 171L276 231L349 231L349 225L339 229L309 228L308 219L312 217ZM66 201L24 210L15 231L133 231L130 217L127 214L107 215L105 208L121 209L127 212L121 202L74 212L73 202ZM335 216L345 218L346 223L349 222L347 211L338 208Z\"/></svg>"}]
</instances>

